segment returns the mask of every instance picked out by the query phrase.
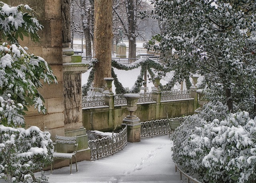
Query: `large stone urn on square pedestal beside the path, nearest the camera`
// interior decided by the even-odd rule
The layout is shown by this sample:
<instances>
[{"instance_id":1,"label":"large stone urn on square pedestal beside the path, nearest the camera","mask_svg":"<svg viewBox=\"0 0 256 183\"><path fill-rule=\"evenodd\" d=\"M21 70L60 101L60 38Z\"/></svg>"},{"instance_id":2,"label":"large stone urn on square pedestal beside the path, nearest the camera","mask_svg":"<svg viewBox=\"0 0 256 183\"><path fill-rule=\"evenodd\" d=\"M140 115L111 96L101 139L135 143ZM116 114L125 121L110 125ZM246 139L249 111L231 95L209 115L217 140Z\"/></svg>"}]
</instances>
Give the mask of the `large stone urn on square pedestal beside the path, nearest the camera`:
<instances>
[{"instance_id":1,"label":"large stone urn on square pedestal beside the path, nearest the camera","mask_svg":"<svg viewBox=\"0 0 256 183\"><path fill-rule=\"evenodd\" d=\"M140 94L124 94L127 100L127 110L130 112L128 116L123 119L122 125L127 125L127 141L140 142L140 118L134 115L137 110L137 102Z\"/></svg>"}]
</instances>

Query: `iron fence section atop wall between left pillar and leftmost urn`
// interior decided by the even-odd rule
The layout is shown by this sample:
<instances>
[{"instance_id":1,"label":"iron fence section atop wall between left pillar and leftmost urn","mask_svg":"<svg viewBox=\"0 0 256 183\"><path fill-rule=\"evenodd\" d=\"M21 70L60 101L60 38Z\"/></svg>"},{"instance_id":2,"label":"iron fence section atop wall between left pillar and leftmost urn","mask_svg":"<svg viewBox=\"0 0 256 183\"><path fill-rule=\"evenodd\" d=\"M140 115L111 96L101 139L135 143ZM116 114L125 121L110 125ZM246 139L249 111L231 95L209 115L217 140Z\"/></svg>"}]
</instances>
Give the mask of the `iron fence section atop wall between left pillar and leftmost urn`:
<instances>
[{"instance_id":1,"label":"iron fence section atop wall between left pillar and leftmost urn","mask_svg":"<svg viewBox=\"0 0 256 183\"><path fill-rule=\"evenodd\" d=\"M95 107L105 105L105 95L83 96L82 107Z\"/></svg>"}]
</instances>

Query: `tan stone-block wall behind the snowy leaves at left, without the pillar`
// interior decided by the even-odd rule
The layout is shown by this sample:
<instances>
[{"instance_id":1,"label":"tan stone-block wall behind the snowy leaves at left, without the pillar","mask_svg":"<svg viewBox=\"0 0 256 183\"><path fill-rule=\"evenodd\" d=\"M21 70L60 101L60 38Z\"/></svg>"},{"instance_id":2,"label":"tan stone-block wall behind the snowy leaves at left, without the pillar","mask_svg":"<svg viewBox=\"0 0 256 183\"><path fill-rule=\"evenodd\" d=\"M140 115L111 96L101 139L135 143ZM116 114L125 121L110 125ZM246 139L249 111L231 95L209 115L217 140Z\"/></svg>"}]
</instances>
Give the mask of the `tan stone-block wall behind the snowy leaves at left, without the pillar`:
<instances>
[{"instance_id":1,"label":"tan stone-block wall behind the snowy leaves at left, without the pillar","mask_svg":"<svg viewBox=\"0 0 256 183\"><path fill-rule=\"evenodd\" d=\"M27 126L38 126L42 130L46 127L53 139L55 134L64 136L64 93L62 67L62 22L61 0L8 0L11 6L28 4L36 12L36 17L44 26L38 31L40 43L34 43L30 37L19 41L20 45L27 46L30 53L44 58L57 77L58 85L45 84L40 93L45 99L47 114L38 114L33 107L25 116Z\"/></svg>"}]
</instances>

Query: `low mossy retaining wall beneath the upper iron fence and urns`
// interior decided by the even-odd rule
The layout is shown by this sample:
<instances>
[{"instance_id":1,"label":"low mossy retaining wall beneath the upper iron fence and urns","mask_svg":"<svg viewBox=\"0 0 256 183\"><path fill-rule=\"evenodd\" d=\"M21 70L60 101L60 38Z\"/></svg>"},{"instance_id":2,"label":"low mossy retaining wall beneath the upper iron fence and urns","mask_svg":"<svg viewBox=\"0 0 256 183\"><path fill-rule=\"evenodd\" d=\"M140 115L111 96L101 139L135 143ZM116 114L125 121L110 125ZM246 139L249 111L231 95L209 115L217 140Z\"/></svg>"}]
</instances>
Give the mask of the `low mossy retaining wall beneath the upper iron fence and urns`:
<instances>
[{"instance_id":1,"label":"low mossy retaining wall beneath the upper iron fence and urns","mask_svg":"<svg viewBox=\"0 0 256 183\"><path fill-rule=\"evenodd\" d=\"M140 121L150 121L152 119L163 119L167 115L171 117L179 117L182 115L194 114L194 98L169 100L162 102L148 102L137 104L138 108L134 112ZM197 107L197 104L196 104ZM129 114L126 105L117 105L113 109L108 106L84 108L83 109L83 126L87 130L100 130L111 132L121 128L122 120Z\"/></svg>"}]
</instances>

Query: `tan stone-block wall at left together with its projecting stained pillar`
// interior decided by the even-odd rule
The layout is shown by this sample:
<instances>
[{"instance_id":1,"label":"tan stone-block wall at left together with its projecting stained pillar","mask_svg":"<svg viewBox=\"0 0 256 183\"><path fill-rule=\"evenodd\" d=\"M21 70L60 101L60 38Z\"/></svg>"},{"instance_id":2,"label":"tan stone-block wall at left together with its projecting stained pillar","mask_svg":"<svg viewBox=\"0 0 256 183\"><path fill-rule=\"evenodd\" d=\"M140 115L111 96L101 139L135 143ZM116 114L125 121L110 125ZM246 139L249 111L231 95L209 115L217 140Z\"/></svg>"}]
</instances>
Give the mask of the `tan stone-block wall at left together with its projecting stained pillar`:
<instances>
[{"instance_id":1,"label":"tan stone-block wall at left together with its projecting stained pillar","mask_svg":"<svg viewBox=\"0 0 256 183\"><path fill-rule=\"evenodd\" d=\"M41 130L47 128L51 138L55 135L77 136L77 160L90 159L86 129L82 126L82 91L81 73L87 66L78 62L76 56L63 55L62 38L62 0L5 0L11 6L28 4L36 12L36 18L44 28L38 31L41 38L34 43L30 37L19 40L20 45L27 46L30 53L44 58L57 77L58 85L44 84L40 93L44 97L47 109L46 115L38 113L34 107L26 112L26 126L38 126ZM68 43L66 43L68 45ZM65 48L70 51L69 48ZM79 59L81 62L81 57ZM68 166L68 161L57 161L56 167Z\"/></svg>"}]
</instances>

